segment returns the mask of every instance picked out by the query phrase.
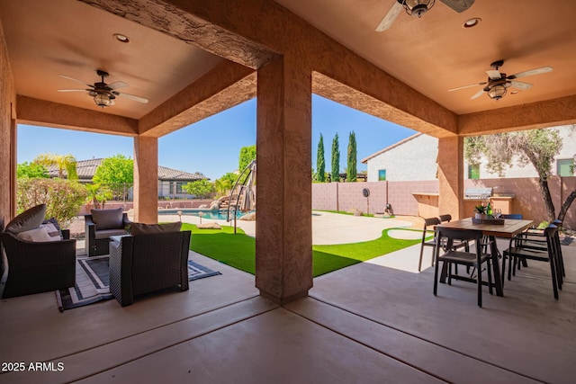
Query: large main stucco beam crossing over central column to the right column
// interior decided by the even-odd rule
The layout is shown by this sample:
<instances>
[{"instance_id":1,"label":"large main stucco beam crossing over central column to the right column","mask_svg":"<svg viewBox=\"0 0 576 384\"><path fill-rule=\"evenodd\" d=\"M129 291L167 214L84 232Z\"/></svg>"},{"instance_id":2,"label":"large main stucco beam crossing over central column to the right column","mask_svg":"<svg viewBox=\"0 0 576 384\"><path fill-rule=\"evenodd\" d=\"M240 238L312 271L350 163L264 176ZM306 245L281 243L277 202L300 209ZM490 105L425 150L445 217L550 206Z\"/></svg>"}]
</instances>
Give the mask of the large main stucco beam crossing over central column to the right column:
<instances>
[{"instance_id":1,"label":"large main stucco beam crossing over central column to the right column","mask_svg":"<svg viewBox=\"0 0 576 384\"><path fill-rule=\"evenodd\" d=\"M358 91L355 97L369 96L361 103L350 98L335 100L338 103L356 104L355 108L360 111L386 116L389 121L439 138L457 132L454 112L388 75L271 0L80 1L246 67L262 67L279 55L300 57L307 62L307 67L326 78L354 87ZM234 17L240 14L242 17Z\"/></svg>"}]
</instances>

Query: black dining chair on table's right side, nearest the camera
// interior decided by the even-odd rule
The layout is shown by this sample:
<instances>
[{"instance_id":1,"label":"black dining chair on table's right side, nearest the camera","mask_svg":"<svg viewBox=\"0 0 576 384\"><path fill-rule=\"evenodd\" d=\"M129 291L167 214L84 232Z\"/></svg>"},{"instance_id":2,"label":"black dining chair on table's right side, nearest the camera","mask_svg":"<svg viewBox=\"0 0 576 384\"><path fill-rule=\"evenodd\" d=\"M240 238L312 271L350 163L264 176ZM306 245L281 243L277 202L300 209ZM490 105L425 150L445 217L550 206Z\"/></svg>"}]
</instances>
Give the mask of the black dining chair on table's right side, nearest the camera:
<instances>
[{"instance_id":1,"label":"black dining chair on table's right side, nearest the camera","mask_svg":"<svg viewBox=\"0 0 576 384\"><path fill-rule=\"evenodd\" d=\"M545 228L542 234L531 233L529 235L531 243L529 247L523 244L525 241L523 237L510 239L509 248L503 252L505 258L508 257L509 260L508 280L511 280L511 275L515 272L518 261L527 259L549 263L554 299L558 299L558 290L562 290L563 285L563 267L559 257L558 248L560 245L556 239L557 234L558 227L554 225ZM504 269L505 263L502 265L502 270Z\"/></svg>"}]
</instances>

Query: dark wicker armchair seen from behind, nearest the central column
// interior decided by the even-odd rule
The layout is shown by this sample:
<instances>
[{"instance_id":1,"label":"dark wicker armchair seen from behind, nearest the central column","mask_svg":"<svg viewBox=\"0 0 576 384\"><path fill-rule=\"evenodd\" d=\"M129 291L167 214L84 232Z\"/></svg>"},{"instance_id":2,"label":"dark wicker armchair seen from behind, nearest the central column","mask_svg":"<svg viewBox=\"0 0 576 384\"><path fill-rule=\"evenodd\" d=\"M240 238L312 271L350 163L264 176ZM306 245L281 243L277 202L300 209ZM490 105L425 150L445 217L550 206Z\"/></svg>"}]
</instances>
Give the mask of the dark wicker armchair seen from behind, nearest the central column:
<instances>
[{"instance_id":1,"label":"dark wicker armchair seen from behind, nearest the central column","mask_svg":"<svg viewBox=\"0 0 576 384\"><path fill-rule=\"evenodd\" d=\"M110 291L122 307L143 293L188 290L190 231L115 237L110 243Z\"/></svg>"}]
</instances>

